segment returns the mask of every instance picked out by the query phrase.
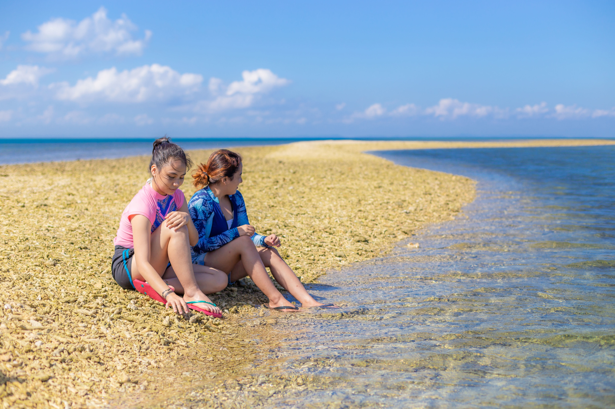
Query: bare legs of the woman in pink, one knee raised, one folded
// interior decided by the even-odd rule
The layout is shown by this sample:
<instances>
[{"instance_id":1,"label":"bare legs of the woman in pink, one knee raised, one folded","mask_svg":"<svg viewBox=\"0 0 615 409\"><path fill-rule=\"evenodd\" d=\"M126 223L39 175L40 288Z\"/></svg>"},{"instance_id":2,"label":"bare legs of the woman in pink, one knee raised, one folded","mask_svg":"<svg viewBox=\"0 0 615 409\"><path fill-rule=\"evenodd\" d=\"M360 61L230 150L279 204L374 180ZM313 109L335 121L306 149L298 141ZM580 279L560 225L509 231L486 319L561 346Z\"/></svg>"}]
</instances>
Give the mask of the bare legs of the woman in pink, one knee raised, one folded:
<instances>
[{"instance_id":1,"label":"bare legs of the woman in pink, one knee raised, one folded","mask_svg":"<svg viewBox=\"0 0 615 409\"><path fill-rule=\"evenodd\" d=\"M186 301L202 300L211 302L207 295L205 295L199 288L197 279L194 276L188 238L188 227L184 226L175 231L167 228L163 223L156 230L154 230L154 233L151 234L150 244L151 251L149 263L163 279L165 279L167 264L169 262L172 263L172 276L177 278L177 282L171 285L175 287L174 284L180 284L180 286L176 287L176 289L179 292L181 288ZM221 281L221 278L224 277L224 285L226 286L226 276L224 273L222 271L217 271L216 273L215 271L216 270L213 268L210 268L208 273L212 276L219 276L217 281L218 283ZM199 272L205 273L205 271ZM141 276L138 271L137 263L135 262L134 257L132 260L132 277L133 279L143 279L143 276ZM220 284L215 286L216 280L205 280L204 284L213 285L215 287L213 289L205 289L210 293L224 288L221 287ZM213 313L220 313L219 308L206 303L199 303L199 308L203 308L204 310Z\"/></svg>"}]
</instances>

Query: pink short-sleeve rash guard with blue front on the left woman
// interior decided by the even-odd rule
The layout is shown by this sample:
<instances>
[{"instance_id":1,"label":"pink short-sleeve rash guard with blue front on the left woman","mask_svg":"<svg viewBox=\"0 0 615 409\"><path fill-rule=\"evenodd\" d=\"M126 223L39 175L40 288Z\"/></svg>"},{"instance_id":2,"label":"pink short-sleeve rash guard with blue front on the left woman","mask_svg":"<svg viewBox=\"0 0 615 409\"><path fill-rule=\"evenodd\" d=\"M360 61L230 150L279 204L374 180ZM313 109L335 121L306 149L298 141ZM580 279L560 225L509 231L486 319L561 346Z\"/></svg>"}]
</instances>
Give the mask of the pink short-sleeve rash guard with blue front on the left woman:
<instances>
[{"instance_id":1,"label":"pink short-sleeve rash guard with blue front on the left woman","mask_svg":"<svg viewBox=\"0 0 615 409\"><path fill-rule=\"evenodd\" d=\"M163 196L156 192L149 182L146 183L122 212L117 236L113 239L113 244L129 249L135 247L132 240L132 224L130 224L132 216L141 214L147 217L152 224L152 230L156 230L164 217L170 212L180 209L182 204L184 204L184 193L180 189L175 190L172 197Z\"/></svg>"}]
</instances>

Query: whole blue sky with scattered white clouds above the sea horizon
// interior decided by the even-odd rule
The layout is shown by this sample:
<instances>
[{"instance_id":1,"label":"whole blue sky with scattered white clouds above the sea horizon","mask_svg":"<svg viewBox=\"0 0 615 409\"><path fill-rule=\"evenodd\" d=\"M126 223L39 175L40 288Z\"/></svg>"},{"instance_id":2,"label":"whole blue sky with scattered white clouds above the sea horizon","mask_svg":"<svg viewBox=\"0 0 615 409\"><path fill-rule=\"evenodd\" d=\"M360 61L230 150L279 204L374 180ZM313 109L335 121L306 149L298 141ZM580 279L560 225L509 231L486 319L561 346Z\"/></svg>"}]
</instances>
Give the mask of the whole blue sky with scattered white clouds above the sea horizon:
<instances>
[{"instance_id":1,"label":"whole blue sky with scattered white clouds above the sea horizon","mask_svg":"<svg viewBox=\"0 0 615 409\"><path fill-rule=\"evenodd\" d=\"M1 137L615 137L615 3L2 2Z\"/></svg>"}]
</instances>

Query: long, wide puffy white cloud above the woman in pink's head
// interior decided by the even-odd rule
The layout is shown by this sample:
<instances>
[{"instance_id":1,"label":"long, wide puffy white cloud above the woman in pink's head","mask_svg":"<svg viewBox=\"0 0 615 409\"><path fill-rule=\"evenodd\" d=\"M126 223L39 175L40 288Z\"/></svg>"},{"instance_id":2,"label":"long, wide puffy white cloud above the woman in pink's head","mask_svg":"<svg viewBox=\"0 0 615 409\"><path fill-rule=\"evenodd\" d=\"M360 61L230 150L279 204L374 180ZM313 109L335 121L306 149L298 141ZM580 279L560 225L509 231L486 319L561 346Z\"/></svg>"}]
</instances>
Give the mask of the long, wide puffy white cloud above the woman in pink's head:
<instances>
[{"instance_id":1,"label":"long, wide puffy white cloud above the woman in pink's head","mask_svg":"<svg viewBox=\"0 0 615 409\"><path fill-rule=\"evenodd\" d=\"M115 67L103 69L95 78L78 80L72 87L66 82L50 87L57 88L56 97L65 101L142 103L196 92L202 82L199 74L180 74L169 66L151 64L121 72Z\"/></svg>"}]
</instances>

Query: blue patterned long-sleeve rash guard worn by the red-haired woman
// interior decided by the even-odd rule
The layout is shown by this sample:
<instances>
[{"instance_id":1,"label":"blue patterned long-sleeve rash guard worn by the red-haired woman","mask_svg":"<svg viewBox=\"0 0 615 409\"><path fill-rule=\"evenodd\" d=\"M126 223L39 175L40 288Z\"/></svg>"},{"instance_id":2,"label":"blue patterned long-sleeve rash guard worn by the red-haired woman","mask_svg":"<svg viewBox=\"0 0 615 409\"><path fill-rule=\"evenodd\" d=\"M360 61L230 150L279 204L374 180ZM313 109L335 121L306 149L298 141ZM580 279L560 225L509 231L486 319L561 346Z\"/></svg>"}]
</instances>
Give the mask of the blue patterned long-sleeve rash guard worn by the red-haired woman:
<instances>
[{"instance_id":1,"label":"blue patterned long-sleeve rash guard worn by the red-haired woman","mask_svg":"<svg viewBox=\"0 0 615 409\"><path fill-rule=\"evenodd\" d=\"M234 195L229 195L233 206L233 213L237 214L237 226L250 224L248 214L245 211L244 197L239 190ZM212 234L213 217L215 216L215 207L220 209L218 198L213 195L209 187L197 190L188 201L188 212L199 232L199 243L192 246L192 263L204 265L205 254L207 252L219 249L226 243L239 237L237 227L230 228L215 236ZM252 241L257 247L269 247L265 244L265 236L258 233L252 235Z\"/></svg>"}]
</instances>

